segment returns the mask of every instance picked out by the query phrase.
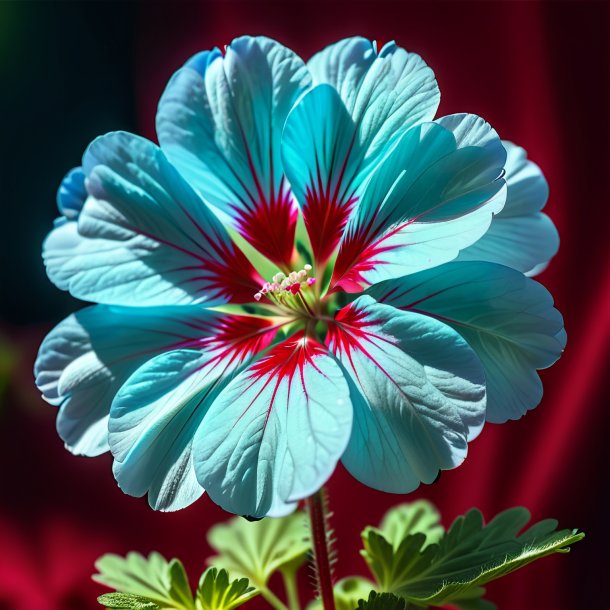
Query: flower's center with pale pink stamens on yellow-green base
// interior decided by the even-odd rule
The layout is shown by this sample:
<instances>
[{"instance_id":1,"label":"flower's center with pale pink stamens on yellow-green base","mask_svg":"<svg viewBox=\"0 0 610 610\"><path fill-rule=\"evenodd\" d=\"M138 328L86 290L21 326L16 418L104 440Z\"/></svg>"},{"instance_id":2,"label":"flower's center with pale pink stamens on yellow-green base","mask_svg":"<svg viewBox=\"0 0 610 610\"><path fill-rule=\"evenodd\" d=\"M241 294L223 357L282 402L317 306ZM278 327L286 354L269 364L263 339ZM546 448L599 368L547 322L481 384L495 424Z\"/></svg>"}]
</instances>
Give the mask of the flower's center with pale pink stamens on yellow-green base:
<instances>
[{"instance_id":1,"label":"flower's center with pale pink stamens on yellow-green base","mask_svg":"<svg viewBox=\"0 0 610 610\"><path fill-rule=\"evenodd\" d=\"M311 265L305 265L303 269L291 271L288 275L281 271L276 273L270 282L263 284L254 299L260 301L266 298L283 310L315 317L318 297L313 289L316 278L310 276L311 270Z\"/></svg>"}]
</instances>

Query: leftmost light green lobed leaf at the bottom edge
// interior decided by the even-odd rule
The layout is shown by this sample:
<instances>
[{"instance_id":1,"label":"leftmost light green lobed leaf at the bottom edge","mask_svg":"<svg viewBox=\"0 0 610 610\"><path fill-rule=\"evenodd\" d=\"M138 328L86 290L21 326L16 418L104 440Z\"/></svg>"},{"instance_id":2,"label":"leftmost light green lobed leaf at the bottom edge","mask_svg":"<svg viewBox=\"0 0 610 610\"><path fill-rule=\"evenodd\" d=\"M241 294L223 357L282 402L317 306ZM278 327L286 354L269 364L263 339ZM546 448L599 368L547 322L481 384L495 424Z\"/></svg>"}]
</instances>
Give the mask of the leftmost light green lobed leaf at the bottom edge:
<instances>
[{"instance_id":1,"label":"leftmost light green lobed leaf at the bottom edge","mask_svg":"<svg viewBox=\"0 0 610 610\"><path fill-rule=\"evenodd\" d=\"M162 608L195 610L188 577L178 559L168 562L155 552L148 557L108 554L98 559L95 567L98 574L93 580L120 593L144 597Z\"/></svg>"}]
</instances>

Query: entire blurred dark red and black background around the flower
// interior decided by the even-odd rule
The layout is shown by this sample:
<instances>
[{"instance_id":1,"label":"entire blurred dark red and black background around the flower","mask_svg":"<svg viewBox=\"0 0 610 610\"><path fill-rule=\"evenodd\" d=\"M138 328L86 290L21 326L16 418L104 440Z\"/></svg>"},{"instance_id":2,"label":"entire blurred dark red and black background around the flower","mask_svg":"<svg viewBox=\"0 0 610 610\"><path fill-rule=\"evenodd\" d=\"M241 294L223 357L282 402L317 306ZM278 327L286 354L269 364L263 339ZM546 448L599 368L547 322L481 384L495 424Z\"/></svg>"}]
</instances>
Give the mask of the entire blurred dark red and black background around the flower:
<instances>
[{"instance_id":1,"label":"entire blurred dark red and black background around the flower","mask_svg":"<svg viewBox=\"0 0 610 610\"><path fill-rule=\"evenodd\" d=\"M152 139L157 100L198 50L266 34L308 58L339 38L391 39L421 54L440 114L485 117L524 146L551 187L562 246L540 276L563 312L565 356L543 372L526 418L488 425L466 463L411 497L445 523L471 506L513 505L587 538L489 587L501 610L610 608L601 597L610 546L610 4L606 2L0 2L0 609L88 610L105 552L156 549L193 578L205 531L224 515L203 499L177 514L124 496L108 456L73 457L33 385L37 347L81 304L46 279L40 258L55 191L98 134ZM365 573L359 532L407 497L329 484L337 576ZM606 588L607 587L603 587Z\"/></svg>"}]
</instances>

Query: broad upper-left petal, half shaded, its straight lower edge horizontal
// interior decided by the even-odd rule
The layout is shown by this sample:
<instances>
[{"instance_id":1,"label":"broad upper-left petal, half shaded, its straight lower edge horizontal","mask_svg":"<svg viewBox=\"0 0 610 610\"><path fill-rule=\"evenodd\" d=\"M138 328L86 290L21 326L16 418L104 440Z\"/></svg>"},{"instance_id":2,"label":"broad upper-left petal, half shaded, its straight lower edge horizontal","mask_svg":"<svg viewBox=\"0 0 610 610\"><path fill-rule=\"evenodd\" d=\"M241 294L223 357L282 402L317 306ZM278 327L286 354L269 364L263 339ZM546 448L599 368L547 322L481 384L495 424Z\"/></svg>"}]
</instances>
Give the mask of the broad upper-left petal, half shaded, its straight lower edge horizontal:
<instances>
[{"instance_id":1,"label":"broad upper-left petal, half shaded, its straight lower edge horizontal","mask_svg":"<svg viewBox=\"0 0 610 610\"><path fill-rule=\"evenodd\" d=\"M56 285L115 305L252 300L260 278L158 147L110 133L83 169L90 196L78 223L58 226L44 246Z\"/></svg>"}]
</instances>

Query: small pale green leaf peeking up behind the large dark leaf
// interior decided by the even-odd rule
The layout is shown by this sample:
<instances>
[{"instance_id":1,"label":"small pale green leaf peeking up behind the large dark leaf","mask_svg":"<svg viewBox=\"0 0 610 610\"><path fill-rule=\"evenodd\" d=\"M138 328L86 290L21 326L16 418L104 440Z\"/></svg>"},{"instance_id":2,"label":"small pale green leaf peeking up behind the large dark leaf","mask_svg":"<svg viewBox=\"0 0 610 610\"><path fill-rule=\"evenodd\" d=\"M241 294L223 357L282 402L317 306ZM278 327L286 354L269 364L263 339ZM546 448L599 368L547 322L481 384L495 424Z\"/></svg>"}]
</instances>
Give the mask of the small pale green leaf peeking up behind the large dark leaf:
<instances>
[{"instance_id":1,"label":"small pale green leaf peeking up behind the large dark leaf","mask_svg":"<svg viewBox=\"0 0 610 610\"><path fill-rule=\"evenodd\" d=\"M377 530L394 548L411 534L424 534L424 546L438 542L445 528L441 525L441 515L436 507L426 500L399 504L391 508L383 517Z\"/></svg>"}]
</instances>

